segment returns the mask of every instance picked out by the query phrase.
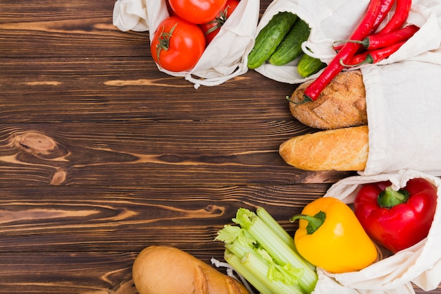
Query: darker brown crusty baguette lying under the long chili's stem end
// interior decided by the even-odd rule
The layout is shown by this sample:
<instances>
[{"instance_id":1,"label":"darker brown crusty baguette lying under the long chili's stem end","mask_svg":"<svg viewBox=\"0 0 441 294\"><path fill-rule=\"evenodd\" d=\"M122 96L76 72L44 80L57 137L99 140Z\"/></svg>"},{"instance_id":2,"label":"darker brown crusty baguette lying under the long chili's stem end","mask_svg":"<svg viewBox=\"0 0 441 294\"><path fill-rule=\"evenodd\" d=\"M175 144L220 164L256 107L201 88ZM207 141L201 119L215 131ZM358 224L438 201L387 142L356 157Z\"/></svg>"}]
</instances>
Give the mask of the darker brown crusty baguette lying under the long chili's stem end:
<instances>
[{"instance_id":1,"label":"darker brown crusty baguette lying under the long chili's stem end","mask_svg":"<svg viewBox=\"0 0 441 294\"><path fill-rule=\"evenodd\" d=\"M292 93L293 102L302 102L305 88L312 82L299 85ZM366 90L361 71L343 71L321 92L314 102L290 102L294 118L311 128L335 129L367 125Z\"/></svg>"}]
</instances>

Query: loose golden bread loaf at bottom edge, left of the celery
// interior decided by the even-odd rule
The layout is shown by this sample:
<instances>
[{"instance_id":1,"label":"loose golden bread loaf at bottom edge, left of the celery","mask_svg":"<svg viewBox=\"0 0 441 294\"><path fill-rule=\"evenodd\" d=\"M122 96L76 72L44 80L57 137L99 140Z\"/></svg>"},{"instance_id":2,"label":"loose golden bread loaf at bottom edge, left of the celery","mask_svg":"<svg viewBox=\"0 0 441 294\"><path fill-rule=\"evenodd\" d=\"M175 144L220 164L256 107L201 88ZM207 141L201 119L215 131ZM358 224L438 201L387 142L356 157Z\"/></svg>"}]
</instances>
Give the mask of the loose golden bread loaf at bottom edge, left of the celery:
<instances>
[{"instance_id":1,"label":"loose golden bread loaf at bottom edge, left of the celery","mask_svg":"<svg viewBox=\"0 0 441 294\"><path fill-rule=\"evenodd\" d=\"M249 294L235 278L175 247L145 248L132 275L139 294Z\"/></svg>"}]
</instances>

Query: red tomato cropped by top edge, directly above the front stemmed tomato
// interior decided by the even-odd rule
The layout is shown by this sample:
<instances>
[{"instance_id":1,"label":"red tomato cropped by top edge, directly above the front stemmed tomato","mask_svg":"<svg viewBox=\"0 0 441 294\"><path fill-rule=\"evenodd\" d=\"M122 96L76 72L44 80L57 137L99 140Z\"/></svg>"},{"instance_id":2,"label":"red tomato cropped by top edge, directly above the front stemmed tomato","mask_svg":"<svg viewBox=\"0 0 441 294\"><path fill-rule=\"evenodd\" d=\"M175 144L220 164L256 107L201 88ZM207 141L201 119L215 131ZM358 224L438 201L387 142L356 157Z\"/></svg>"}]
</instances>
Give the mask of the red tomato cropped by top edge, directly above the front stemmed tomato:
<instances>
[{"instance_id":1,"label":"red tomato cropped by top edge, directly above the front stemmed tomato","mask_svg":"<svg viewBox=\"0 0 441 294\"><path fill-rule=\"evenodd\" d=\"M227 0L168 0L175 13L190 23L208 23L216 17Z\"/></svg>"}]
</instances>

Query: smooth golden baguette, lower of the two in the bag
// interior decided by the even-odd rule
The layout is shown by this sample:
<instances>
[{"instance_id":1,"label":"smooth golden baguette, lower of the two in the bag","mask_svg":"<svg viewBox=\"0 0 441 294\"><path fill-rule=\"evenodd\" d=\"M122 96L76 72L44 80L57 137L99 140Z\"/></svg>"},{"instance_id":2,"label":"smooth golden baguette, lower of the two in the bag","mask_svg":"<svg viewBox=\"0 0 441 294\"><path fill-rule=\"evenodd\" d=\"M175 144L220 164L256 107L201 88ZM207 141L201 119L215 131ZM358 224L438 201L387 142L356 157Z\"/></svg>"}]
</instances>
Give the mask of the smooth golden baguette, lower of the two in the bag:
<instances>
[{"instance_id":1,"label":"smooth golden baguette, lower of the two in the bag","mask_svg":"<svg viewBox=\"0 0 441 294\"><path fill-rule=\"evenodd\" d=\"M306 171L364 171L368 126L321 130L292 137L280 145L287 164Z\"/></svg>"}]
</instances>

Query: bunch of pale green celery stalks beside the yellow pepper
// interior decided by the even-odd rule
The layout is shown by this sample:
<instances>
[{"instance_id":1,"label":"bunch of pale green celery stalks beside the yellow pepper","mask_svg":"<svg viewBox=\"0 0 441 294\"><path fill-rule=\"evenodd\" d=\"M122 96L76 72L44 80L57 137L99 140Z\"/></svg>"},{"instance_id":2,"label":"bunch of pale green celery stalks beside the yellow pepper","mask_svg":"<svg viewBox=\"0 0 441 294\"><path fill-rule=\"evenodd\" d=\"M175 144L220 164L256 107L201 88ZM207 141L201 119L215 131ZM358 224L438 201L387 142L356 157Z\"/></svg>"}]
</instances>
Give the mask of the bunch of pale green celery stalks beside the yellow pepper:
<instances>
[{"instance_id":1,"label":"bunch of pale green celery stalks beside the yellow pepper","mask_svg":"<svg viewBox=\"0 0 441 294\"><path fill-rule=\"evenodd\" d=\"M309 294L317 282L314 267L298 255L294 240L266 212L237 209L234 225L216 240L225 242L225 260L261 293Z\"/></svg>"}]
</instances>

